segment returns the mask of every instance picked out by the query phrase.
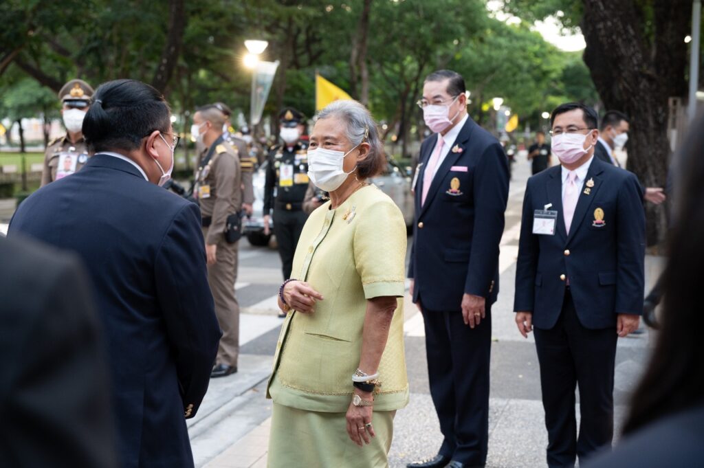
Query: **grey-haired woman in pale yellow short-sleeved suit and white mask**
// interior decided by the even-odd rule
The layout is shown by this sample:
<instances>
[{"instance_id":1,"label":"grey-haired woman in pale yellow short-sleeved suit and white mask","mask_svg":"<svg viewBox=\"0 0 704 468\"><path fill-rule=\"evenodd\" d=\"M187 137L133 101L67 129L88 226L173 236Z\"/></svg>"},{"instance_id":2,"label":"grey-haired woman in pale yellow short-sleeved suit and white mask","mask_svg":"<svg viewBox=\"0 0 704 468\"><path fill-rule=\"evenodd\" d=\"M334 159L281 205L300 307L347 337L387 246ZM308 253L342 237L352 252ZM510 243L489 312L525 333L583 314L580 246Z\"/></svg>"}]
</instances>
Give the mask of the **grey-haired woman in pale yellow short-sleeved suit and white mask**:
<instances>
[{"instance_id":1,"label":"grey-haired woman in pale yellow short-sleeved suit and white mask","mask_svg":"<svg viewBox=\"0 0 704 468\"><path fill-rule=\"evenodd\" d=\"M388 466L396 410L408 403L403 352L406 225L367 182L386 160L356 101L318 113L308 174L330 200L308 218L274 358L270 468Z\"/></svg>"}]
</instances>

